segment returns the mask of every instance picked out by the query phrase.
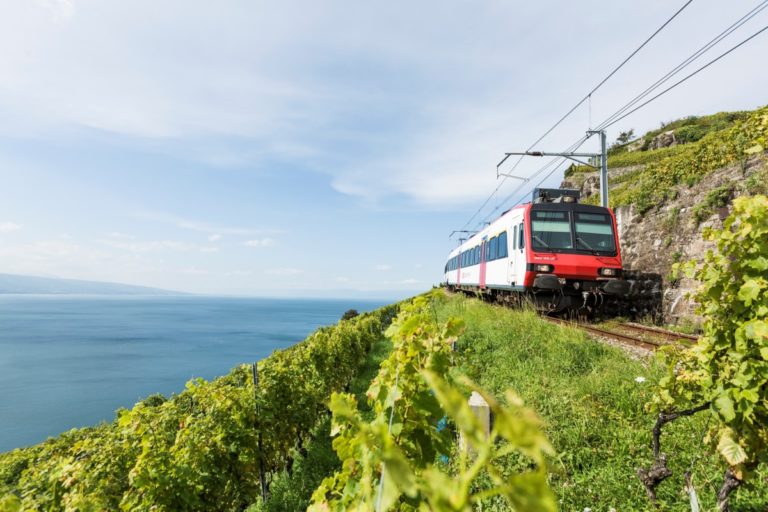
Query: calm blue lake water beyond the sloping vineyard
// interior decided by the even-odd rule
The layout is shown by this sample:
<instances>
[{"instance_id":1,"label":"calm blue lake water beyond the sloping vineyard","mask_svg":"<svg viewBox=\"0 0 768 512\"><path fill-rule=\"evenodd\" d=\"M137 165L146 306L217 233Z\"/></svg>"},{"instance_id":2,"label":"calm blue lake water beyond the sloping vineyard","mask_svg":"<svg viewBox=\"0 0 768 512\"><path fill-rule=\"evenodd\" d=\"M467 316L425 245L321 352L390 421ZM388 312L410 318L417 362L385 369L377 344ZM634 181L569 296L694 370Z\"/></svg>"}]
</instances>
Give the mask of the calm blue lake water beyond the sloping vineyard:
<instances>
[{"instance_id":1,"label":"calm blue lake water beyond the sloping vineyard","mask_svg":"<svg viewBox=\"0 0 768 512\"><path fill-rule=\"evenodd\" d=\"M111 421L380 301L0 295L0 451Z\"/></svg>"}]
</instances>

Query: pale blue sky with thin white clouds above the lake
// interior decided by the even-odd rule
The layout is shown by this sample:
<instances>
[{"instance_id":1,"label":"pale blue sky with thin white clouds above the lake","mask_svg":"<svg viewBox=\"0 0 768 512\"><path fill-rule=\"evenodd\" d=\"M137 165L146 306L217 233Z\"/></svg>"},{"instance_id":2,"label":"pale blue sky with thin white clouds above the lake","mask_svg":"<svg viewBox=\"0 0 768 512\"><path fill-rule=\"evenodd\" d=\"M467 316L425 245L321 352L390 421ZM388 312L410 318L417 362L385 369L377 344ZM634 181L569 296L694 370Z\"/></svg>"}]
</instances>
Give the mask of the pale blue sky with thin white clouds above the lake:
<instances>
[{"instance_id":1,"label":"pale blue sky with thin white clouds above the lake","mask_svg":"<svg viewBox=\"0 0 768 512\"><path fill-rule=\"evenodd\" d=\"M0 272L217 295L420 292L504 152L683 3L0 0ZM537 149L563 150L757 4L694 0ZM766 24L768 10L699 65ZM609 141L765 105L767 50L768 32ZM470 227L527 196L518 183Z\"/></svg>"}]
</instances>

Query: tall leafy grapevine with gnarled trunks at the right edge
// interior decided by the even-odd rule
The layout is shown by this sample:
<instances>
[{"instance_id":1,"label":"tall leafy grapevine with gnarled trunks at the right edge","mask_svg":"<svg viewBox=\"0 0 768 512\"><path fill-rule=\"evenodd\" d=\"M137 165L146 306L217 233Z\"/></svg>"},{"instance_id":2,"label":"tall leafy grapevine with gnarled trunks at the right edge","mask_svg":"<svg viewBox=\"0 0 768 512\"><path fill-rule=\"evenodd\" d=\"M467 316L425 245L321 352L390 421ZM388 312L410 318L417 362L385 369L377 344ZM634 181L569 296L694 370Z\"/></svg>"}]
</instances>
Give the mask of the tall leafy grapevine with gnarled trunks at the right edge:
<instances>
[{"instance_id":1,"label":"tall leafy grapevine with gnarled trunks at the right edge","mask_svg":"<svg viewBox=\"0 0 768 512\"><path fill-rule=\"evenodd\" d=\"M725 462L718 507L756 466L768 462L768 197L739 197L723 229L707 229L717 242L702 265L687 262L687 275L702 283L695 298L704 333L686 350L667 354L668 373L650 404L655 463L638 470L648 496L672 472L661 452L664 426L702 412L712 425L705 442Z\"/></svg>"}]
</instances>

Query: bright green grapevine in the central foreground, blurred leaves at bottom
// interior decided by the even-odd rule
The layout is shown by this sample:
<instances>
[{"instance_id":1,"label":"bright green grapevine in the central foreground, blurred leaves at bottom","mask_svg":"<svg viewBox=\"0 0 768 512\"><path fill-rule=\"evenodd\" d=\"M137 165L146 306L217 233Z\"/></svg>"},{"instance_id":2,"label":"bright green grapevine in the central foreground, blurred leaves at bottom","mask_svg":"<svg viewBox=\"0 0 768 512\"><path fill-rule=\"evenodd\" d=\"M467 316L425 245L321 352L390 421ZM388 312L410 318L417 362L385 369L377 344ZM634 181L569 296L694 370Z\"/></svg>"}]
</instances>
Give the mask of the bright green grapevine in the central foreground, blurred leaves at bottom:
<instances>
[{"instance_id":1,"label":"bright green grapevine in the central foreground, blurred leaves at bottom","mask_svg":"<svg viewBox=\"0 0 768 512\"><path fill-rule=\"evenodd\" d=\"M367 393L374 418L363 420L352 395L331 396L333 447L342 469L315 491L310 511L467 511L494 496L516 510L556 510L546 483L552 448L536 415L511 392L502 406L467 379L451 377L452 343L461 330L458 320L438 324L425 297L402 308L387 331L394 350ZM494 415L489 435L463 389L488 402ZM471 449L457 449L454 431ZM532 469L503 474L494 462L510 453Z\"/></svg>"}]
</instances>

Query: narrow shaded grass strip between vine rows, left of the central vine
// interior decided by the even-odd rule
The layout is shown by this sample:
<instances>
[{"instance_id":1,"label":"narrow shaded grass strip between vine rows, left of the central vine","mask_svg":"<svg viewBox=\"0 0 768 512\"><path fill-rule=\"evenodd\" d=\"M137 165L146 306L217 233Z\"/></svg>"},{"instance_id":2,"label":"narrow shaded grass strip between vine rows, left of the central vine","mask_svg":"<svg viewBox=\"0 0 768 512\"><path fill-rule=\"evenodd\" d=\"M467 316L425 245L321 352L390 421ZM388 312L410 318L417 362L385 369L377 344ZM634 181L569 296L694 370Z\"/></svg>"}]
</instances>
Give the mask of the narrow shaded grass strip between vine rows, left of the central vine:
<instances>
[{"instance_id":1,"label":"narrow shaded grass strip between vine rows, left of the central vine","mask_svg":"<svg viewBox=\"0 0 768 512\"><path fill-rule=\"evenodd\" d=\"M362 370L350 385L350 393L357 396L359 409L366 419L371 419L366 416L372 416L373 412L368 407L365 392L378 373L379 365L389 356L391 350L392 342L382 336L371 348ZM313 439L307 444L306 452L295 454L293 470L273 476L267 501L253 505L249 510L253 512L306 510L312 493L323 479L341 468L341 462L331 446L330 430L329 416L313 432Z\"/></svg>"}]
</instances>

